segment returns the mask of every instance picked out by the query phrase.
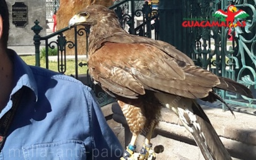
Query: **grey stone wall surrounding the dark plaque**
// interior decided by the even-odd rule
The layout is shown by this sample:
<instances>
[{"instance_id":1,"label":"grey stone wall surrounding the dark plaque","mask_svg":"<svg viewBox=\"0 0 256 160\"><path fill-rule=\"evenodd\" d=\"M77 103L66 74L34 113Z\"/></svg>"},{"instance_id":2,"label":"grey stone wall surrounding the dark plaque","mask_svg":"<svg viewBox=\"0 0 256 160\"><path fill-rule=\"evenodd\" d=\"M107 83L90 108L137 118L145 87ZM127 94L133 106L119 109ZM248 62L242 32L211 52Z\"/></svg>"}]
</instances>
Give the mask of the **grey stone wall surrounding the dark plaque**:
<instances>
[{"instance_id":1,"label":"grey stone wall surrounding the dark plaque","mask_svg":"<svg viewBox=\"0 0 256 160\"><path fill-rule=\"evenodd\" d=\"M9 46L14 45L34 45L34 32L31 27L34 26L36 19L40 22L40 26L44 29L40 32L41 36L46 35L46 12L45 12L45 1L34 1L34 0L6 0L9 8L10 15L10 34L9 34ZM16 27L12 24L12 5L15 2L24 2L27 6L28 23L25 27Z\"/></svg>"}]
</instances>

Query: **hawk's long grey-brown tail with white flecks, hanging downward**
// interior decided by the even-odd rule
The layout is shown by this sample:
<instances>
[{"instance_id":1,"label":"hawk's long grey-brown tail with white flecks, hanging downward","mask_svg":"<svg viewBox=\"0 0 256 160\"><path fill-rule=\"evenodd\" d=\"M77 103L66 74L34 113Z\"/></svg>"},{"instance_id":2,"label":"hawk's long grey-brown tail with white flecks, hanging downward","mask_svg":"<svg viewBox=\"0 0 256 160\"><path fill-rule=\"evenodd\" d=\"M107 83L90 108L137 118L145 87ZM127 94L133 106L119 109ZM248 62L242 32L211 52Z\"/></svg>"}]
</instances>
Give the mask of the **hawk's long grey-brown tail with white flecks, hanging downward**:
<instances>
[{"instance_id":1,"label":"hawk's long grey-brown tail with white flecks, hanging downward","mask_svg":"<svg viewBox=\"0 0 256 160\"><path fill-rule=\"evenodd\" d=\"M201 106L199 106L196 101L192 106L193 105L193 108L197 108L196 111L194 111L194 109L193 111L189 111L178 108L178 115L183 125L193 135L204 158L206 160L232 160L211 123L204 120L204 115L200 114L203 112Z\"/></svg>"}]
</instances>

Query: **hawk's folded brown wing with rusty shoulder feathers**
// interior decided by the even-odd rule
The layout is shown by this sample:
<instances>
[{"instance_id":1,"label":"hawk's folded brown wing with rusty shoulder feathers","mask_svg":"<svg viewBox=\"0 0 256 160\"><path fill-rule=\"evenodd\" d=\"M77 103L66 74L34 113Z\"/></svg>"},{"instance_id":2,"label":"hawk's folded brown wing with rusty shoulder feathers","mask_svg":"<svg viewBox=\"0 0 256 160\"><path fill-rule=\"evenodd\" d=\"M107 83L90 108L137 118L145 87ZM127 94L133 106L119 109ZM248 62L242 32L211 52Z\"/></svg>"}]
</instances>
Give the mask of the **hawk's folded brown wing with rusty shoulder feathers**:
<instances>
[{"instance_id":1,"label":"hawk's folded brown wing with rusty shoulder feathers","mask_svg":"<svg viewBox=\"0 0 256 160\"><path fill-rule=\"evenodd\" d=\"M150 44L105 42L90 55L88 67L105 90L128 98L145 90L202 98L219 84L216 75L181 61L184 55L174 52L166 54Z\"/></svg>"}]
</instances>

